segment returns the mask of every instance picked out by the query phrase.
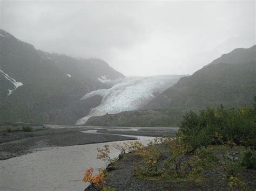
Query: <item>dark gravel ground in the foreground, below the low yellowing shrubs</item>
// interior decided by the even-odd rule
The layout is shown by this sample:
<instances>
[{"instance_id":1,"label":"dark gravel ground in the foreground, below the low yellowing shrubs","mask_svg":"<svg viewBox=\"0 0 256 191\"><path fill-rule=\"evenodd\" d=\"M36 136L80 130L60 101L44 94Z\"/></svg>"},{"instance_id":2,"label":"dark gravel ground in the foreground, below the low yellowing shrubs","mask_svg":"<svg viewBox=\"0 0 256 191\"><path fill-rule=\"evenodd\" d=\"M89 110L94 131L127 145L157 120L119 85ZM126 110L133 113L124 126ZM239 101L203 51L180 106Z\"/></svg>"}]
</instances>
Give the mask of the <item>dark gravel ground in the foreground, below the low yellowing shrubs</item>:
<instances>
[{"instance_id":1,"label":"dark gravel ground in the foreground, below the low yellowing shrubs","mask_svg":"<svg viewBox=\"0 0 256 191\"><path fill-rule=\"evenodd\" d=\"M230 190L228 180L223 176L220 169L207 170L204 179L200 181L159 181L156 178L139 179L133 175L134 163L141 160L134 153L125 154L116 163L116 169L107 172L105 177L106 186L116 190ZM242 173L243 181L248 190L256 188L256 171L247 170ZM86 190L93 190L88 187Z\"/></svg>"}]
</instances>

